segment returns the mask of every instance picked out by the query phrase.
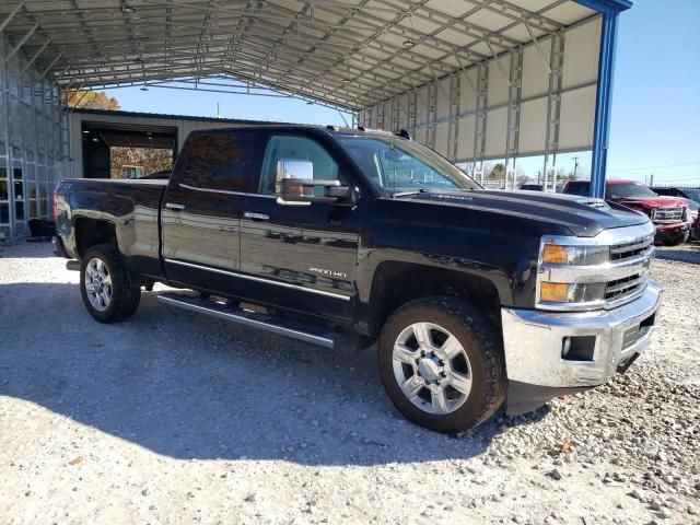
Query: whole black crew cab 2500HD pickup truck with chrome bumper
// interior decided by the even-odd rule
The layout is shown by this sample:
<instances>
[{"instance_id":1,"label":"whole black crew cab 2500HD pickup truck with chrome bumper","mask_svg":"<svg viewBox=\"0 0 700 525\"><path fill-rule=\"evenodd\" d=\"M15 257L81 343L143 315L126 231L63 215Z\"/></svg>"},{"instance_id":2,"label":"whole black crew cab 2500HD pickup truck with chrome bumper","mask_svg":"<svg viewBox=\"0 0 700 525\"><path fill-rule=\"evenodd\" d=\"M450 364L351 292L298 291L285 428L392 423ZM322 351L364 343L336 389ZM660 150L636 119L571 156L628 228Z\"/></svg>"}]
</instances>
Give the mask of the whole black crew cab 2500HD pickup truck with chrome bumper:
<instances>
[{"instance_id":1,"label":"whole black crew cab 2500HD pickup truck with chrome bumper","mask_svg":"<svg viewBox=\"0 0 700 525\"><path fill-rule=\"evenodd\" d=\"M327 348L376 341L396 407L442 432L595 387L650 342L654 225L486 190L407 133L192 132L170 180L70 179L56 252L102 323L163 303Z\"/></svg>"}]
</instances>

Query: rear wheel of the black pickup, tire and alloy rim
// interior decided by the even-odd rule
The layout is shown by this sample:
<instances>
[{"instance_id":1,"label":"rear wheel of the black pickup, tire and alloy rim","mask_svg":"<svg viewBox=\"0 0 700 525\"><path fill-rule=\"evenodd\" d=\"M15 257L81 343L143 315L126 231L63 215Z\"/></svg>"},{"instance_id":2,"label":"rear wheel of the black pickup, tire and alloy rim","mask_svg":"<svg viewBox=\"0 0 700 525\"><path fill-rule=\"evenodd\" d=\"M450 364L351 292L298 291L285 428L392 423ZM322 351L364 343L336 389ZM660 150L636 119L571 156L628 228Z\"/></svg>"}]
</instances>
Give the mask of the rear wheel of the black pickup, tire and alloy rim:
<instances>
[{"instance_id":1,"label":"rear wheel of the black pickup, tire and alloy rim","mask_svg":"<svg viewBox=\"0 0 700 525\"><path fill-rule=\"evenodd\" d=\"M80 290L85 308L101 323L124 320L136 312L141 288L129 275L121 255L112 244L85 252L80 268Z\"/></svg>"}]
</instances>

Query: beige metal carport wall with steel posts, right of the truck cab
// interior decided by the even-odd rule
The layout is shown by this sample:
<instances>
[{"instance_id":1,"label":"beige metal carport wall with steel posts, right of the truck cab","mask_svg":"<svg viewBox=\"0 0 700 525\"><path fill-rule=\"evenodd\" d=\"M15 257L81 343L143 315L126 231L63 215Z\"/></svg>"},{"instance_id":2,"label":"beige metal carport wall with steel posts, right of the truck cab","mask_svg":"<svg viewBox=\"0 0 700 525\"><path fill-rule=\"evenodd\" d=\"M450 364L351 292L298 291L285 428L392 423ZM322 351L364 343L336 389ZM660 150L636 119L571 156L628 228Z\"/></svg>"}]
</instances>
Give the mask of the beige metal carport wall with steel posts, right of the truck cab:
<instances>
[{"instance_id":1,"label":"beige metal carport wall with steel posts, right of the truck cab","mask_svg":"<svg viewBox=\"0 0 700 525\"><path fill-rule=\"evenodd\" d=\"M590 150L600 26L596 15L365 108L359 121L407 129L472 168L487 160L547 155L547 163L553 153Z\"/></svg>"}]
</instances>

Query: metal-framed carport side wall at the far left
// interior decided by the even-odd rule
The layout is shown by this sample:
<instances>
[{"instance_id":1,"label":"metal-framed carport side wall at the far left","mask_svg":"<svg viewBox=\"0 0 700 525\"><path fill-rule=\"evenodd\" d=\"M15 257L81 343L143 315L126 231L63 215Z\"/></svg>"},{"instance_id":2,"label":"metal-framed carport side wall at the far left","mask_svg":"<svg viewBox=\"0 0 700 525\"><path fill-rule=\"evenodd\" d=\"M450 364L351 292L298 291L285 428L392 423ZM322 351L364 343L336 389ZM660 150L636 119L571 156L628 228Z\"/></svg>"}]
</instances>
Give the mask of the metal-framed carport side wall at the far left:
<instances>
[{"instance_id":1,"label":"metal-framed carport side wall at the far left","mask_svg":"<svg viewBox=\"0 0 700 525\"><path fill-rule=\"evenodd\" d=\"M58 88L0 34L0 237L50 218L67 149L61 121Z\"/></svg>"}]
</instances>

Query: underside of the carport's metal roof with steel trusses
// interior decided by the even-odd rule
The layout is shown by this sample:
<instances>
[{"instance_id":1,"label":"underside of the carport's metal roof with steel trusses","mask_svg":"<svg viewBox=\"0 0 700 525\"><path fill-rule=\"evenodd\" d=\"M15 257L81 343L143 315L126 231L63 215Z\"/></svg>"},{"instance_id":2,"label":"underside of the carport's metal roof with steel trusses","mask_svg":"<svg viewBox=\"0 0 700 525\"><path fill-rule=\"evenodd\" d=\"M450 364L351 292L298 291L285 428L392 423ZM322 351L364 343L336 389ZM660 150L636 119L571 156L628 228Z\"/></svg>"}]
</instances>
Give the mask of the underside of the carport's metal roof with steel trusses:
<instances>
[{"instance_id":1,"label":"underside of the carport's metal roof with steel trusses","mask_svg":"<svg viewBox=\"0 0 700 525\"><path fill-rule=\"evenodd\" d=\"M22 52L50 40L37 69L62 86L225 74L358 109L529 42L525 24L546 35L593 13L572 0L26 0L4 31L20 42L38 24Z\"/></svg>"}]
</instances>

